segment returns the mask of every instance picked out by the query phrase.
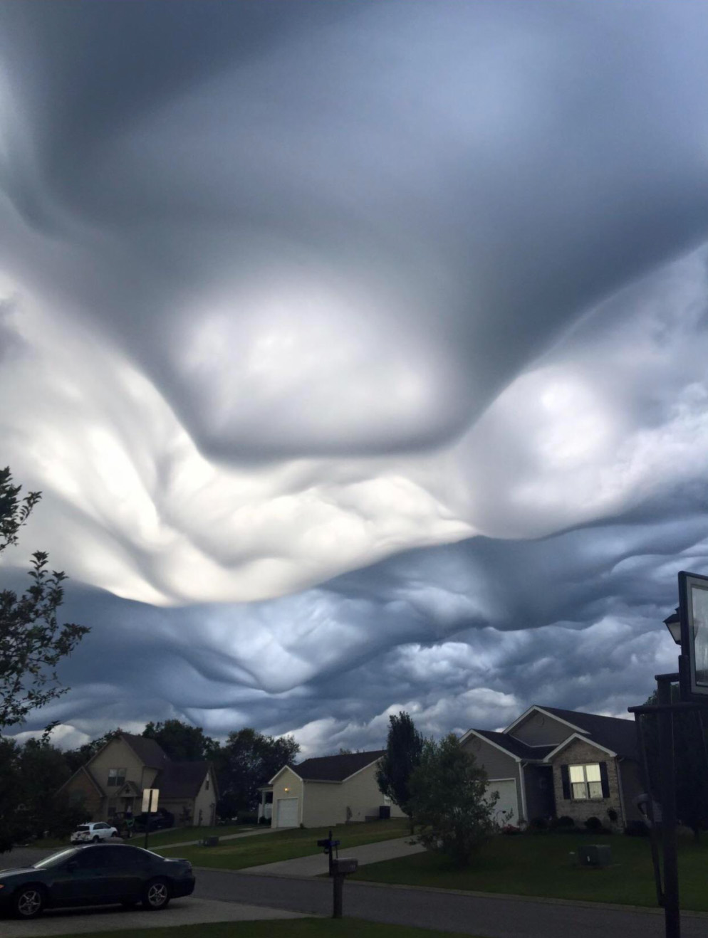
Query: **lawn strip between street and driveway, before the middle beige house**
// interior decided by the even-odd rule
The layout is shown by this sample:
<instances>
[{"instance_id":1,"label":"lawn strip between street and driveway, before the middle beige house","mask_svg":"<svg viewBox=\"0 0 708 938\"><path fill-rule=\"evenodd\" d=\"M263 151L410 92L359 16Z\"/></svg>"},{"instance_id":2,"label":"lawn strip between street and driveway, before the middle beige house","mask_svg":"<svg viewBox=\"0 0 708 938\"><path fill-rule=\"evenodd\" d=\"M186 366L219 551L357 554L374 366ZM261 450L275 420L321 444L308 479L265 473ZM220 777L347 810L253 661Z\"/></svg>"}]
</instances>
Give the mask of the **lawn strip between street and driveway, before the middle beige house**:
<instances>
[{"instance_id":1,"label":"lawn strip between street and driveway, before the middle beige house","mask_svg":"<svg viewBox=\"0 0 708 938\"><path fill-rule=\"evenodd\" d=\"M319 853L316 841L327 837L328 827L313 827L273 831L265 837L244 837L227 841L218 847L182 847L179 855L192 862L195 867L221 867L223 870L243 870L262 863L293 860L298 856ZM372 821L363 824L339 825L332 828L335 840L341 847L358 847L362 843L391 840L408 834L405 819ZM174 856L170 851L168 856Z\"/></svg>"}]
</instances>

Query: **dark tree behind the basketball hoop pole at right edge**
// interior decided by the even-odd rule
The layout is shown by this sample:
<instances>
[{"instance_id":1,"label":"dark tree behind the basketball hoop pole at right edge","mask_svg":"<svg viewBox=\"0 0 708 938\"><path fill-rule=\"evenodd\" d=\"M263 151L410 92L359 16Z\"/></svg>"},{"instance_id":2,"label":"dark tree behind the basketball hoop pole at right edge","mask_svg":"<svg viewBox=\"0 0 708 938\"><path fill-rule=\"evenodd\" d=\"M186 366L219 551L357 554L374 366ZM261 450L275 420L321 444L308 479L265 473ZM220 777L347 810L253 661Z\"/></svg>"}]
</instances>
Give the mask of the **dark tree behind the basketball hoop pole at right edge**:
<instances>
[{"instance_id":1,"label":"dark tree behind the basketball hoop pole at right edge","mask_svg":"<svg viewBox=\"0 0 708 938\"><path fill-rule=\"evenodd\" d=\"M680 700L679 688L671 687L671 701ZM656 691L647 703L657 702ZM654 800L661 803L657 720L642 716L642 727ZM690 827L696 840L708 829L708 727L702 710L673 714L673 759L676 768L676 813Z\"/></svg>"}]
</instances>

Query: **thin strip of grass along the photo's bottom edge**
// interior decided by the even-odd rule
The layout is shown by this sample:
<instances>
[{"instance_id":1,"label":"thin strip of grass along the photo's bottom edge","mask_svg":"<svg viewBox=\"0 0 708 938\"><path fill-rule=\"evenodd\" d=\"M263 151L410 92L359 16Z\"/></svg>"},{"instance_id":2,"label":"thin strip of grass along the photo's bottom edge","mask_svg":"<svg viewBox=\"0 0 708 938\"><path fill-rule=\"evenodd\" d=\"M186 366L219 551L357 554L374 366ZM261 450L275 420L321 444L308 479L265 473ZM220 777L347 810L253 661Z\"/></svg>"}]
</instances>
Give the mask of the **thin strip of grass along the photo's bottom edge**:
<instances>
[{"instance_id":1,"label":"thin strip of grass along the photo's bottom edge","mask_svg":"<svg viewBox=\"0 0 708 938\"><path fill-rule=\"evenodd\" d=\"M378 925L360 918L288 918L265 922L217 922L168 929L82 931L64 938L455 938L451 931ZM458 934L457 938L462 938ZM465 938L470 938L466 935Z\"/></svg>"}]
</instances>

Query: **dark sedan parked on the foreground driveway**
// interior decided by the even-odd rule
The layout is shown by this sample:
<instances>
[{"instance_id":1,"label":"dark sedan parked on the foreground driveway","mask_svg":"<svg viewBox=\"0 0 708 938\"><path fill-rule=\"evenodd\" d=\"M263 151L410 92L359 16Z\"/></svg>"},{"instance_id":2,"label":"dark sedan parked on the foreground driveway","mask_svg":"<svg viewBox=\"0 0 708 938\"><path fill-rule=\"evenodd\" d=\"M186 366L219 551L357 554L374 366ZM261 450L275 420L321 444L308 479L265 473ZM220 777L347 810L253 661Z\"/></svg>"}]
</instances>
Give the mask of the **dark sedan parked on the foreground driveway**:
<instances>
[{"instance_id":1,"label":"dark sedan parked on the foreground driveway","mask_svg":"<svg viewBox=\"0 0 708 938\"><path fill-rule=\"evenodd\" d=\"M44 909L114 902L128 908L142 902L158 910L193 891L189 860L164 859L127 843L70 847L33 867L0 870L0 909L19 918L35 918Z\"/></svg>"}]
</instances>

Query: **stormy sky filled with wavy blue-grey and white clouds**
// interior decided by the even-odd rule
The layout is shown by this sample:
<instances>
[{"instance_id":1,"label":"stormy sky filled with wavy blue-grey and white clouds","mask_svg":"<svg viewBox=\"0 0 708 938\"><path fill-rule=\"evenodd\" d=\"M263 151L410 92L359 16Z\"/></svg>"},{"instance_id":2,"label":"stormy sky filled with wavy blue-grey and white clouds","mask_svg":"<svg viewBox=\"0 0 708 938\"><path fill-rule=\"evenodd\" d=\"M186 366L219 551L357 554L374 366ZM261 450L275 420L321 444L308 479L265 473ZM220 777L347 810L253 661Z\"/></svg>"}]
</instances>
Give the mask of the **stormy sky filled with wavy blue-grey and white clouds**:
<instances>
[{"instance_id":1,"label":"stormy sky filled with wavy blue-grey and white clouds","mask_svg":"<svg viewBox=\"0 0 708 938\"><path fill-rule=\"evenodd\" d=\"M0 0L3 576L92 628L27 732L321 754L674 670L706 48L703 0Z\"/></svg>"}]
</instances>

